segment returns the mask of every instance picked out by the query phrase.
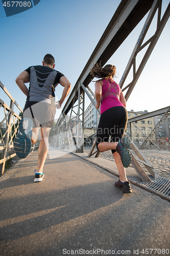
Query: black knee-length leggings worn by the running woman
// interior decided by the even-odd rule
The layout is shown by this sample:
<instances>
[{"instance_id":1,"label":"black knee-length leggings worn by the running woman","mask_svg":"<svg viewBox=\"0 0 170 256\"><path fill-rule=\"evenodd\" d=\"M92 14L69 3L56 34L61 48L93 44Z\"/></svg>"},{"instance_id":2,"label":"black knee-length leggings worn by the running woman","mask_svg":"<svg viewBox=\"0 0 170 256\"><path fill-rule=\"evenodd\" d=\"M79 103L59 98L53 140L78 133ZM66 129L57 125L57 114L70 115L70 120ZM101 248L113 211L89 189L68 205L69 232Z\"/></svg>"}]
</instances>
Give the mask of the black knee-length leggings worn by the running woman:
<instances>
[{"instance_id":1,"label":"black knee-length leggings worn by the running woman","mask_svg":"<svg viewBox=\"0 0 170 256\"><path fill-rule=\"evenodd\" d=\"M128 112L124 106L114 106L103 112L98 125L96 136L96 147L99 143L108 142L111 136L111 142L117 142L124 136L128 122ZM111 150L112 154L116 152Z\"/></svg>"}]
</instances>

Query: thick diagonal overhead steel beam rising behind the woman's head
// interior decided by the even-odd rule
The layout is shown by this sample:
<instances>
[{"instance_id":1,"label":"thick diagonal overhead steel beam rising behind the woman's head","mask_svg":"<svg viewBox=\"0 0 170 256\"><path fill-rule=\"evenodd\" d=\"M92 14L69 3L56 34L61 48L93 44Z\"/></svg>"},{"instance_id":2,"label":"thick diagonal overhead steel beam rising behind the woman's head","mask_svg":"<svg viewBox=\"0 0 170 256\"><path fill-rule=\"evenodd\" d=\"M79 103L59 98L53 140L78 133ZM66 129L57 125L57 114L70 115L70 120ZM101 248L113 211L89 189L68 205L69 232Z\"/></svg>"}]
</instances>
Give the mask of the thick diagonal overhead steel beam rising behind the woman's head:
<instances>
[{"instance_id":1,"label":"thick diagonal overhead steel beam rising behind the woman's head","mask_svg":"<svg viewBox=\"0 0 170 256\"><path fill-rule=\"evenodd\" d=\"M153 2L154 0L123 0L120 2L98 45L96 45L79 76L75 87L72 89L62 113L67 114L71 109L71 101L74 99L74 94L77 93L78 89L76 87L78 83L81 81L87 87L91 82L92 76L90 75L90 69L93 63L101 62L102 66L105 65L144 15L151 9Z\"/></svg>"}]
</instances>

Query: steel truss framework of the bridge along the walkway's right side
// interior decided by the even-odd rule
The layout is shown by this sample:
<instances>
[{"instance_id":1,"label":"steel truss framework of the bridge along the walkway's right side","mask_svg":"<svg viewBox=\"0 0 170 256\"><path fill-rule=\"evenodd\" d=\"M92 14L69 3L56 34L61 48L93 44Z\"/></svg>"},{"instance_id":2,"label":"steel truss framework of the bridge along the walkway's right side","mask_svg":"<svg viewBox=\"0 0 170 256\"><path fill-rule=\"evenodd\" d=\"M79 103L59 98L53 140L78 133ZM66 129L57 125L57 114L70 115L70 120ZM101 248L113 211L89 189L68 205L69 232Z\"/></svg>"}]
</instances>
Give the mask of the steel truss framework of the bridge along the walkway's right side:
<instances>
[{"instance_id":1,"label":"steel truss framework of the bridge along the walkway's right side","mask_svg":"<svg viewBox=\"0 0 170 256\"><path fill-rule=\"evenodd\" d=\"M147 63L160 35L163 31L164 26L170 15L170 4L167 6L164 14L161 18L161 0L122 0L116 9L110 23L108 24L106 30L104 31L101 39L96 45L94 51L92 52L89 60L86 63L81 75L79 76L73 90L71 91L69 98L64 105L62 113L56 123L54 130L53 146L59 147L63 150L74 150L76 144L76 152L84 152L84 106L85 106L85 94L88 96L90 101L95 105L94 93L89 88L89 83L92 80L90 74L90 69L93 67L93 63L101 63L103 67L109 58L116 52L116 50L122 45L124 40L132 32L132 30L137 26L141 19L146 15L142 30L139 31L138 39L135 43L133 52L130 56L130 59L127 63L127 67L120 79L119 85L122 91L126 91L125 98L129 99L137 80L144 69L145 64ZM153 18L157 12L157 28L156 32L143 43L145 36L153 22ZM144 48L147 48L143 54L142 60L138 69L136 69L136 56ZM146 49L145 48L145 49ZM133 78L129 84L126 84L126 78L133 69ZM161 124L165 118L169 115L170 107L168 106L165 109L156 111L154 113L146 114L147 117L155 116L158 114L164 114L163 119L160 121ZM99 120L100 110L97 111L97 124ZM146 115L138 117L138 119L147 118ZM145 117L144 117L145 116ZM137 117L136 117L137 118ZM129 120L131 124L136 120ZM156 131L156 128L151 132ZM75 143L76 138L76 143ZM150 136L147 138L149 140ZM147 140L146 139L146 140ZM95 140L90 149L88 157L91 157L95 154L95 157L99 157L100 152L93 152L95 148ZM148 172L154 178L159 178L159 174L156 172L154 167L149 163L149 161L142 155L139 148L131 142L131 148L135 155L132 154L132 165L134 166L137 174L142 181L151 181L147 173L144 172L143 168L139 163L144 164L144 167L147 168Z\"/></svg>"}]
</instances>

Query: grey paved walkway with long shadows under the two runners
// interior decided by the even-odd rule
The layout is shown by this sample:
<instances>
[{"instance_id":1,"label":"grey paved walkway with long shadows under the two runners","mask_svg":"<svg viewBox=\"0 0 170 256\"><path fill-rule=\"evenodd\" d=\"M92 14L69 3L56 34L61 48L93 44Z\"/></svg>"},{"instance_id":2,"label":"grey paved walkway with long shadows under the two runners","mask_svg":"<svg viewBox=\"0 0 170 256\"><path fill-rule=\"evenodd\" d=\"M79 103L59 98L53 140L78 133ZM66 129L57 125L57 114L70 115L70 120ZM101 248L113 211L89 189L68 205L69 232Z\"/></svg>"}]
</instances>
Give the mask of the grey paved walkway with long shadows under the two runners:
<instances>
[{"instance_id":1,"label":"grey paved walkway with long shadows under the two runners","mask_svg":"<svg viewBox=\"0 0 170 256\"><path fill-rule=\"evenodd\" d=\"M124 194L116 176L73 154L47 157L34 183L37 158L0 178L0 255L170 255L168 201L133 184Z\"/></svg>"}]
</instances>

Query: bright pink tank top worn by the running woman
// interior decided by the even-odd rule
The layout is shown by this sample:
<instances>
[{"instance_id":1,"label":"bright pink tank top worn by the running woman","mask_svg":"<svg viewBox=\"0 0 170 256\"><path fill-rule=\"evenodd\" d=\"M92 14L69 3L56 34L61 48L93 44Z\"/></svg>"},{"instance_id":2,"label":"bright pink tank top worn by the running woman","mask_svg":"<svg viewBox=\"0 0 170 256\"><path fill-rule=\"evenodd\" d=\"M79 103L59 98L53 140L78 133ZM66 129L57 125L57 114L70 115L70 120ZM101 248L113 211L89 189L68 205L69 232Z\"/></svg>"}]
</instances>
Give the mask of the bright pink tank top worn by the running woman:
<instances>
[{"instance_id":1,"label":"bright pink tank top worn by the running woman","mask_svg":"<svg viewBox=\"0 0 170 256\"><path fill-rule=\"evenodd\" d=\"M119 85L111 79L102 81L101 114L113 106L124 106L119 100L121 93Z\"/></svg>"}]
</instances>

